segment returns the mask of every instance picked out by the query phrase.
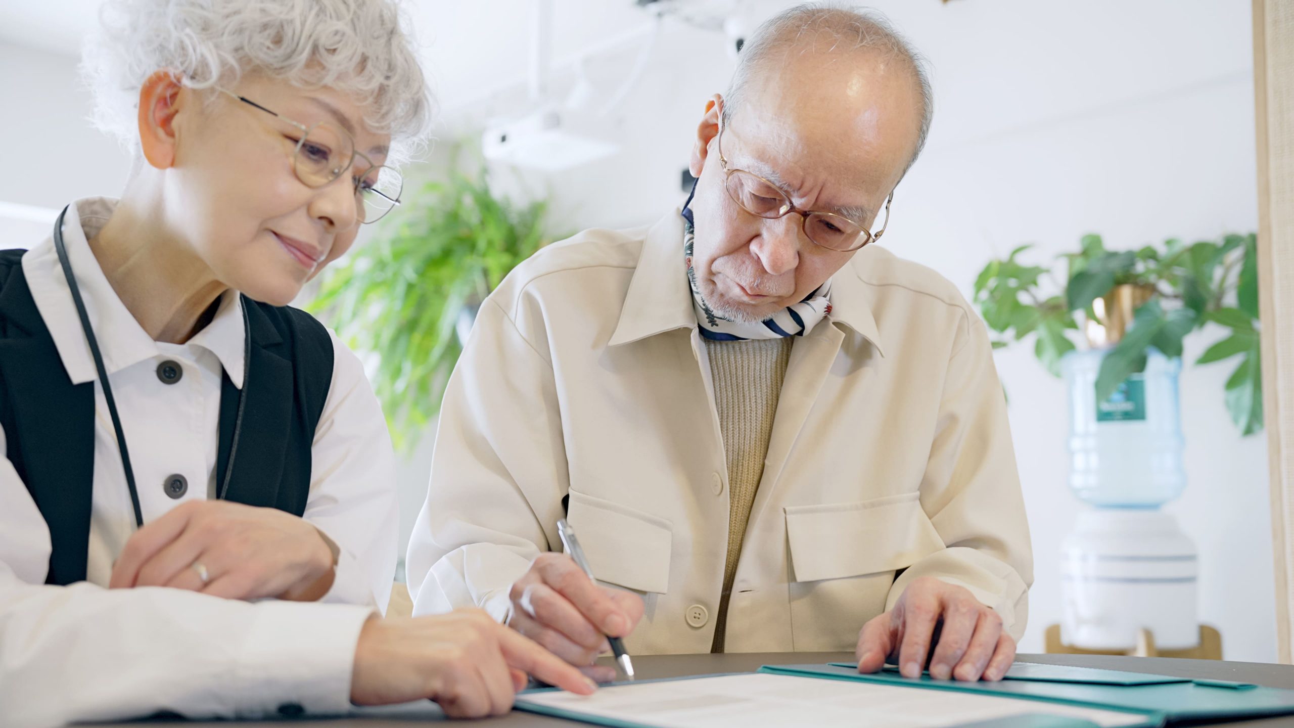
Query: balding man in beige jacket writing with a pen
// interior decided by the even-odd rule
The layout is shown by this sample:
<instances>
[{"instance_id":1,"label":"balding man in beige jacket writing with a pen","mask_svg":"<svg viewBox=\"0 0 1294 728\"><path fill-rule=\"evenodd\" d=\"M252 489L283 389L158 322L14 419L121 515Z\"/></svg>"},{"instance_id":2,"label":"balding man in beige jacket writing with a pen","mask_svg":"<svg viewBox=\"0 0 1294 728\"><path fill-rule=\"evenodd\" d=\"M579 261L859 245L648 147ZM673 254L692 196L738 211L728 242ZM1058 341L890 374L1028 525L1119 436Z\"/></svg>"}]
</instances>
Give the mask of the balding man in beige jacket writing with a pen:
<instances>
[{"instance_id":1,"label":"balding man in beige jacket writing with a pen","mask_svg":"<svg viewBox=\"0 0 1294 728\"><path fill-rule=\"evenodd\" d=\"M540 251L481 307L415 610L481 606L581 666L611 635L1000 679L1031 556L989 338L952 284L867 247L929 119L884 19L766 22L707 104L688 202ZM604 584L551 553L562 517Z\"/></svg>"}]
</instances>

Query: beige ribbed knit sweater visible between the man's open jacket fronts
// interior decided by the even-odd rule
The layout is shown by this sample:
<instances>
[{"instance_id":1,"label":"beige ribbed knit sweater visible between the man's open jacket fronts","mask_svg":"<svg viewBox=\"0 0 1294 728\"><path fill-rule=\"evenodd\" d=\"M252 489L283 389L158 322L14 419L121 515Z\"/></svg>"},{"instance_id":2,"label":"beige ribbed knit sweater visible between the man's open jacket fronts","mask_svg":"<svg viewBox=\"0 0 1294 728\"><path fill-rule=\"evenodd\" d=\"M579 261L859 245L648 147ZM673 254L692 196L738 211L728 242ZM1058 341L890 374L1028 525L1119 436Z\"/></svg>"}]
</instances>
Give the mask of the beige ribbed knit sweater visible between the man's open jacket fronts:
<instances>
[{"instance_id":1,"label":"beige ribbed knit sweater visible between the man's open jacket fronts","mask_svg":"<svg viewBox=\"0 0 1294 728\"><path fill-rule=\"evenodd\" d=\"M741 539L745 538L754 492L763 477L773 417L778 412L778 396L787 376L793 341L792 337L785 337L705 342L729 470L729 549L712 652L723 652L732 575L741 556Z\"/></svg>"}]
</instances>

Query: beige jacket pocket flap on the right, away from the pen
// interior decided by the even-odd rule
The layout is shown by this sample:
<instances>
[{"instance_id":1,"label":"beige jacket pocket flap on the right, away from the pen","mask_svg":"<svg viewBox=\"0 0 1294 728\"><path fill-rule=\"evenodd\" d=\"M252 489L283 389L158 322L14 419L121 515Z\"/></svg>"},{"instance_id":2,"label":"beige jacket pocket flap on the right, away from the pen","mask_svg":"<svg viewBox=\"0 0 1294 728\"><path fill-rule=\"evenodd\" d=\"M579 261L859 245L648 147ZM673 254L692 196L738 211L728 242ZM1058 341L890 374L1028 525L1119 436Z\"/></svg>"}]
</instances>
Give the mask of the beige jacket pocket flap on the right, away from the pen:
<instances>
[{"instance_id":1,"label":"beige jacket pocket flap on the right, away from the pen","mask_svg":"<svg viewBox=\"0 0 1294 728\"><path fill-rule=\"evenodd\" d=\"M901 494L862 503L785 509L796 582L894 571L943 548L917 500Z\"/></svg>"}]
</instances>

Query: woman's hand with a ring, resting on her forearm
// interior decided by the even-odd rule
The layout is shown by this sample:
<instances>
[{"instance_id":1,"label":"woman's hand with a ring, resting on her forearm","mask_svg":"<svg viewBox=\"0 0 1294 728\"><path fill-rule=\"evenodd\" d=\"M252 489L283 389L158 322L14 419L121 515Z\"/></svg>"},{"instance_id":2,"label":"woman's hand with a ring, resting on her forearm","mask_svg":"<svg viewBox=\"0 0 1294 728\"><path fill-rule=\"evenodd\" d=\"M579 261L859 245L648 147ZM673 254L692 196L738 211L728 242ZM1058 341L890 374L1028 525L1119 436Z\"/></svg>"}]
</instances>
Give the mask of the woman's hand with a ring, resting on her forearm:
<instances>
[{"instance_id":1,"label":"woman's hand with a ring, resting on her forearm","mask_svg":"<svg viewBox=\"0 0 1294 728\"><path fill-rule=\"evenodd\" d=\"M140 529L113 566L109 588L314 601L333 576L333 549L303 518L214 500L186 503Z\"/></svg>"}]
</instances>

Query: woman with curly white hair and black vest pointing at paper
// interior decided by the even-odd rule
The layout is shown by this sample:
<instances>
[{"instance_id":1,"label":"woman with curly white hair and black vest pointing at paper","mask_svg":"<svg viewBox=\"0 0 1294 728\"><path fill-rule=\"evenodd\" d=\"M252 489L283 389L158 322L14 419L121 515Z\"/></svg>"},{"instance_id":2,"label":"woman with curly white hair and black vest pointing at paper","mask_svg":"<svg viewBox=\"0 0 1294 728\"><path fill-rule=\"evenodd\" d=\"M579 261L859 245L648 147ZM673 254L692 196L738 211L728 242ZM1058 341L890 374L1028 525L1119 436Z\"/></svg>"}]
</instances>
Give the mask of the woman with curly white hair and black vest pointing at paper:
<instances>
[{"instance_id":1,"label":"woman with curly white hair and black vest pointing at paper","mask_svg":"<svg viewBox=\"0 0 1294 728\"><path fill-rule=\"evenodd\" d=\"M120 199L0 255L0 705L506 711L591 684L483 613L379 619L392 452L356 356L287 303L400 202L428 124L387 0L114 0L88 45ZM75 170L75 159L66 159ZM36 242L36 241L32 241Z\"/></svg>"}]
</instances>

